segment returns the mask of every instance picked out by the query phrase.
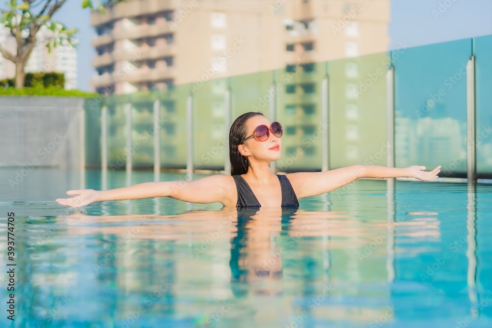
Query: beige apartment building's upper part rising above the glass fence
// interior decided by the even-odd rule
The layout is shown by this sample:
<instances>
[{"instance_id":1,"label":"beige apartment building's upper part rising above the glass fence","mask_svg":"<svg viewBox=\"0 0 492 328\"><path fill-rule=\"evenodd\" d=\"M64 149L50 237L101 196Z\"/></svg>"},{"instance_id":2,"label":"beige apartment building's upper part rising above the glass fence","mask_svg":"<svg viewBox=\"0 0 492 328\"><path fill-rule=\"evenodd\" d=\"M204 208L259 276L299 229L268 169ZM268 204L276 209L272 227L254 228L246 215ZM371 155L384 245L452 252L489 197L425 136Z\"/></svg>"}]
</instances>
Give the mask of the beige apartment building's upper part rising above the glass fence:
<instances>
[{"instance_id":1,"label":"beige apartment building's upper part rising above the glass fence","mask_svg":"<svg viewBox=\"0 0 492 328\"><path fill-rule=\"evenodd\" d=\"M92 12L93 88L123 94L386 51L389 0L129 0ZM213 72L211 72L213 69Z\"/></svg>"}]
</instances>

